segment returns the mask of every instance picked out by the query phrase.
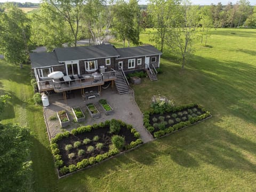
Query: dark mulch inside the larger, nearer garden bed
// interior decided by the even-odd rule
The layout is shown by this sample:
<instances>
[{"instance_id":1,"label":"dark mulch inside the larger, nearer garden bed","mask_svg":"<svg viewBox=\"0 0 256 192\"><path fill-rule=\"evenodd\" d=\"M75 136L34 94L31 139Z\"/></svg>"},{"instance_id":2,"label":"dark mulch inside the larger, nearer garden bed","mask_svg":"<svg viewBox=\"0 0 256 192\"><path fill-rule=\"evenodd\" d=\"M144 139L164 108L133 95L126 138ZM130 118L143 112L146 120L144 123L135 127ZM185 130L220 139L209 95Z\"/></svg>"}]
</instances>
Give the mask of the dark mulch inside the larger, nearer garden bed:
<instances>
[{"instance_id":1,"label":"dark mulch inside the larger, nearer garden bed","mask_svg":"<svg viewBox=\"0 0 256 192\"><path fill-rule=\"evenodd\" d=\"M99 128L99 129L92 129L91 132L86 132L86 133L82 133L82 134L77 134L77 135L73 135L70 134L70 136L68 138L64 138L60 141L57 142L59 149L60 149L60 155L62 157L62 160L64 162L64 165L68 166L70 164L77 164L78 162L82 161L83 159L87 159L90 157L95 157L97 155L101 155L104 154L106 152L109 151L109 145L111 145L111 137L113 136L113 134L108 133L109 131L109 127L103 127L103 128ZM99 136L99 141L93 141L93 137L95 135ZM135 138L133 136L133 134L131 133L130 130L126 129L126 127L121 126L121 130L118 133L118 135L121 135L125 138L125 145L128 145L131 143L131 141L135 141L137 140L137 138ZM73 148L70 151L66 151L65 150L65 146L68 144L73 145L75 141L81 141L83 143L83 140L85 138L89 138L91 140L90 143L88 143L87 145L82 144L81 146L79 146L78 148ZM96 149L96 144L97 143L103 143L103 147L102 149ZM95 149L92 153L87 152L87 147L88 146L93 146ZM78 156L78 150L79 149L84 149L85 150L85 154L82 156ZM75 153L76 156L73 159L69 159L68 158L68 154L70 153Z\"/></svg>"}]
</instances>

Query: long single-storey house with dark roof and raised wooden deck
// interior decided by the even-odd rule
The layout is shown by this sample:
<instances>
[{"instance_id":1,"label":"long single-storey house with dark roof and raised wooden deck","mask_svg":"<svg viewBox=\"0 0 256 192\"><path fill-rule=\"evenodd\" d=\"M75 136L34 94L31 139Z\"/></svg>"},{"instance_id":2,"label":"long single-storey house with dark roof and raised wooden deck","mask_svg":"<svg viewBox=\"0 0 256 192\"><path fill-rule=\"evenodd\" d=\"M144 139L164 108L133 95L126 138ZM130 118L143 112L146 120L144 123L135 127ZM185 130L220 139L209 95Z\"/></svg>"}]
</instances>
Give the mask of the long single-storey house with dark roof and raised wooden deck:
<instances>
[{"instance_id":1,"label":"long single-storey house with dark roof and raised wooden deck","mask_svg":"<svg viewBox=\"0 0 256 192\"><path fill-rule=\"evenodd\" d=\"M39 92L66 92L114 83L120 94L128 92L125 74L146 70L151 79L159 67L161 52L154 46L116 48L111 44L62 47L52 52L30 53ZM64 76L52 79L47 75L62 71ZM153 78L154 79L154 78Z\"/></svg>"}]
</instances>

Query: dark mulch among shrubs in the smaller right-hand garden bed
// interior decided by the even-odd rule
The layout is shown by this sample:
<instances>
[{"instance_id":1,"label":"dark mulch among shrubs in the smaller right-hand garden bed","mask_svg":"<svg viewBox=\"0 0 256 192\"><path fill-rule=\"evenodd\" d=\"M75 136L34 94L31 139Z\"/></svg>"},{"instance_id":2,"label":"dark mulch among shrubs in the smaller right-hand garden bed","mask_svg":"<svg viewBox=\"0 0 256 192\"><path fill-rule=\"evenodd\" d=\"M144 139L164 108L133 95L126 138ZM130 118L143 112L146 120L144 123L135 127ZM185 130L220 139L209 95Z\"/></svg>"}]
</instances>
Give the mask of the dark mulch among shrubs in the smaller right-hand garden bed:
<instances>
[{"instance_id":1,"label":"dark mulch among shrubs in the smaller right-hand garden bed","mask_svg":"<svg viewBox=\"0 0 256 192\"><path fill-rule=\"evenodd\" d=\"M202 114L205 114L205 111L203 111L202 109L198 108L197 106L196 106L196 107L192 107L192 108L187 108L187 109L184 109L184 110L181 110L181 111L176 111L175 114L177 114L177 117L180 118L180 120L181 120L180 122L188 121L188 115L191 115L191 114L179 116L178 113L179 113L179 112L183 113L184 111L188 111L188 109L193 109L193 108L196 108L197 111L199 111L199 112L201 113L201 115L202 115ZM193 113L194 113L194 112L193 112ZM160 115L160 114L153 114L153 115L150 115L150 116L149 116L149 123L150 123L152 126L154 125L154 123L160 124L160 123L161 123L161 121L159 120L159 117L160 117L160 116L165 117L165 118L164 118L164 121L167 122L167 125L165 125L165 127L170 127L170 126L173 126L173 125L175 125L175 124L180 123L180 122L177 122L177 121L175 120L175 118L172 117L172 114L174 114L174 113L164 113L164 114L162 114L162 115ZM170 116L170 118L167 118L167 116ZM154 118L154 117L157 118L157 122L153 122L153 118ZM176 118L177 118L177 117L176 117ZM186 117L186 119L183 120L182 117ZM170 120L170 119L172 119L172 121L173 121L172 124L169 123L169 120ZM154 128L155 128L155 127L154 127ZM157 128L155 128L154 132L159 131L159 130L160 130L160 129L157 127Z\"/></svg>"}]
</instances>

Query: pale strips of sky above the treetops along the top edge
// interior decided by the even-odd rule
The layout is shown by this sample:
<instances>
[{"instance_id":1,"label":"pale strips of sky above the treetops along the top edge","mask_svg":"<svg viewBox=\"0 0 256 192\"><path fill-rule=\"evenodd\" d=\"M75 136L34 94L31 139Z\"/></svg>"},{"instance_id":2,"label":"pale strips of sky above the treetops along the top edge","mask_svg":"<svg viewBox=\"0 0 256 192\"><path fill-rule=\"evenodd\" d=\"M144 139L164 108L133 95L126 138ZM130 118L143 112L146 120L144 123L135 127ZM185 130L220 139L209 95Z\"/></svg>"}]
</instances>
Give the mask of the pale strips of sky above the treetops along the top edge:
<instances>
[{"instance_id":1,"label":"pale strips of sky above the treetops along the top edge","mask_svg":"<svg viewBox=\"0 0 256 192\"><path fill-rule=\"evenodd\" d=\"M218 4L218 2L221 2L222 5L227 5L228 2L236 3L238 0L210 0L210 1L205 1L205 0L190 0L194 5L211 5L213 4ZM31 2L31 3L39 3L40 0L0 0L0 2L20 2L20 3L25 3L25 2ZM256 0L250 0L249 1L251 5L256 5ZM139 4L147 4L147 0L139 0Z\"/></svg>"}]
</instances>

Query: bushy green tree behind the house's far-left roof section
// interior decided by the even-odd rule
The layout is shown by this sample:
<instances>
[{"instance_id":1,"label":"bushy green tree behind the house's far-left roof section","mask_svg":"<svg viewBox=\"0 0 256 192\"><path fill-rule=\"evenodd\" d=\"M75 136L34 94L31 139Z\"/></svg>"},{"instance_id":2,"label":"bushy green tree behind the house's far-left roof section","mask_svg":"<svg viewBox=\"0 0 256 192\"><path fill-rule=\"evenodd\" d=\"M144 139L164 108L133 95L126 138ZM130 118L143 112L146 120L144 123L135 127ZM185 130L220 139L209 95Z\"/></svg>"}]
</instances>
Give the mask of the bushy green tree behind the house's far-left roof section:
<instances>
[{"instance_id":1,"label":"bushy green tree behind the house's far-left roof section","mask_svg":"<svg viewBox=\"0 0 256 192\"><path fill-rule=\"evenodd\" d=\"M46 46L47 51L62 47L63 43L71 44L73 39L68 23L60 15L50 11L48 4L42 3L38 12L30 13L31 41L37 46Z\"/></svg>"}]
</instances>

